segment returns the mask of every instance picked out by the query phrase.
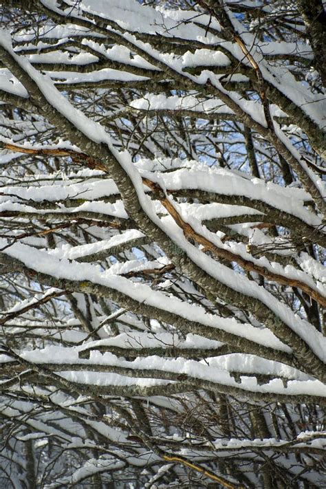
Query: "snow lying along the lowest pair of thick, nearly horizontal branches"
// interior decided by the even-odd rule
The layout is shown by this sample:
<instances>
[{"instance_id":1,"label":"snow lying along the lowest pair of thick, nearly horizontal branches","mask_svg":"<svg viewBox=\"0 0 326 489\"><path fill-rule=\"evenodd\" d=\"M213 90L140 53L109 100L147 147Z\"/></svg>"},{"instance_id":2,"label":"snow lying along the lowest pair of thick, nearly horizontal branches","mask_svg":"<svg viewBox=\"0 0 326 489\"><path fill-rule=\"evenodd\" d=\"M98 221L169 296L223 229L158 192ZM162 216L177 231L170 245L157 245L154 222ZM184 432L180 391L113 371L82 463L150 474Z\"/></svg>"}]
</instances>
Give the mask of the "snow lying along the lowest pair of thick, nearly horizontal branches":
<instances>
[{"instance_id":1,"label":"snow lying along the lowest pair of thick, nearly horizontal branches","mask_svg":"<svg viewBox=\"0 0 326 489\"><path fill-rule=\"evenodd\" d=\"M67 351L68 350L68 351ZM230 360L229 358L230 357ZM60 375L70 382L83 384L94 384L98 386L146 386L163 385L166 380L160 378L151 378L150 375L146 378L146 371L160 371L162 378L164 373L186 374L189 380L204 380L221 384L223 386L236 387L243 391L251 391L257 393L277 393L283 395L317 395L326 398L326 386L319 380L309 379L301 373L297 373L296 369L286 367L272 362L270 360L262 360L255 356L230 355L219 357L213 360L197 362L196 360L185 360L184 358L164 359L160 356L146 356L146 358L138 357L132 362L117 358L111 353L100 354L98 351L91 351L90 360L78 358L78 352L72 349L63 349L62 347L47 347L45 350L24 352L23 358L32 362L41 362L46 365L51 358L51 363L60 365L66 363L69 365L69 370L61 371ZM232 361L235 360L235 361ZM244 371L254 371L256 373L272 373L276 376L284 376L290 378L287 381L286 387L280 378L272 378L270 382L258 384L255 377L246 376L246 373L241 375L241 383L236 382L232 378L229 369L238 370L243 373L241 362L244 360ZM207 363L209 365L207 365ZM74 371L74 364L84 365L85 371ZM135 376L126 377L119 373L107 373L100 371L87 371L87 366L103 365L120 367L122 373L126 373L124 369L135 369ZM221 368L224 367L224 368ZM230 368L231 367L231 368ZM266 369L267 367L267 369ZM142 371L142 376L137 377L138 371ZM291 378L293 380L291 380Z\"/></svg>"}]
</instances>

